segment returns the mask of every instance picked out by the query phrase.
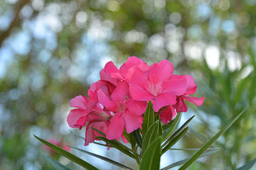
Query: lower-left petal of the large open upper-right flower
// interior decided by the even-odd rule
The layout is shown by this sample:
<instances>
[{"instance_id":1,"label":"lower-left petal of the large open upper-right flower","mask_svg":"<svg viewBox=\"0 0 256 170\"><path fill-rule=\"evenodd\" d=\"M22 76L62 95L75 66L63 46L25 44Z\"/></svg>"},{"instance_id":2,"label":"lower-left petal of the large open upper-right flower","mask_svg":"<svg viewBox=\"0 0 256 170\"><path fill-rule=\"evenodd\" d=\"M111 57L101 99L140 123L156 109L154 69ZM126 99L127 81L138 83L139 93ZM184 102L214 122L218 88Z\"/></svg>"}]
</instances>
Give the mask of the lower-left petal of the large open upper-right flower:
<instances>
[{"instance_id":1,"label":"lower-left petal of the large open upper-right flower","mask_svg":"<svg viewBox=\"0 0 256 170\"><path fill-rule=\"evenodd\" d=\"M154 96L150 94L147 90L139 87L138 85L130 84L130 93L132 99L136 101L150 101L154 99Z\"/></svg>"}]
</instances>

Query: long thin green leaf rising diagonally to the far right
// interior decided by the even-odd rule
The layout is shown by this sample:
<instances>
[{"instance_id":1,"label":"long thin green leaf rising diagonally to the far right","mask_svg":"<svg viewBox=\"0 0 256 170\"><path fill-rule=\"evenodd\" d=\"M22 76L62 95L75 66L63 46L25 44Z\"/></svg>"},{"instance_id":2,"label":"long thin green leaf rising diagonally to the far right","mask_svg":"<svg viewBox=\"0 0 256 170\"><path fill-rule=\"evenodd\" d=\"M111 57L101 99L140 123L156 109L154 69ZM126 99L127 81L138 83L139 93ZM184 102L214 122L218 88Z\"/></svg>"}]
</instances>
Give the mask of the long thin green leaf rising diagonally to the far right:
<instances>
[{"instance_id":1,"label":"long thin green leaf rising diagonally to the far right","mask_svg":"<svg viewBox=\"0 0 256 170\"><path fill-rule=\"evenodd\" d=\"M248 106L247 106L248 108ZM246 109L247 109L246 108ZM225 127L223 127L223 129L221 129L221 131L219 131L215 136L213 136L202 148L200 148L200 150L198 150L198 152L196 152L182 167L180 167L179 169L187 169L189 166L191 166L191 164L193 164L193 162L195 162L196 159L198 159L198 157L200 157L200 155L202 155L205 150L207 150L208 148L211 147L211 145L221 136L221 134L223 134L225 131L227 131L227 129L234 124L234 122L236 122L236 120L241 117L241 115L243 115L244 111L246 110L244 109L241 113L239 113L239 115L237 115L237 117L235 117L231 122L229 122L229 124L227 124Z\"/></svg>"}]
</instances>

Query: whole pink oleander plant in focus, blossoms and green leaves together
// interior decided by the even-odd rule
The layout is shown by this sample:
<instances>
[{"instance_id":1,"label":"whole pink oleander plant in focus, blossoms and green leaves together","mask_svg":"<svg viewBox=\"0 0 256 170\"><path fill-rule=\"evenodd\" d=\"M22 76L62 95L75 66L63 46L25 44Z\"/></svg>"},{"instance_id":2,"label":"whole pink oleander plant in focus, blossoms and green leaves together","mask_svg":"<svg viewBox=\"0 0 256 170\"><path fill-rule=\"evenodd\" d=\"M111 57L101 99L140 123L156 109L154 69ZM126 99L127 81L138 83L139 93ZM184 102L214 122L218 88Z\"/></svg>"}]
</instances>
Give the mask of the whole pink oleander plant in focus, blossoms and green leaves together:
<instances>
[{"instance_id":1,"label":"whole pink oleander plant in focus, blossoms and green leaves together","mask_svg":"<svg viewBox=\"0 0 256 170\"><path fill-rule=\"evenodd\" d=\"M95 143L108 149L116 148L134 159L140 169L159 169L161 155L172 150L172 146L186 134L186 126L194 117L178 128L181 113L188 111L185 101L197 106L204 103L205 97L191 96L196 89L193 77L189 74L173 74L173 65L168 60L148 66L137 57L129 57L120 69L113 62L108 62L100 71L100 80L88 90L88 97L76 96L71 99L70 106L74 109L68 114L67 123L80 130L86 127L84 146ZM174 162L163 169L180 165L180 169L186 169L199 157L217 152L218 148L208 148L241 115L242 113L237 115L189 159ZM36 138L80 166L97 169L72 153L37 136ZM70 147L115 166L131 169L114 160ZM54 167L58 165L64 168L55 160L47 160L51 160Z\"/></svg>"}]
</instances>

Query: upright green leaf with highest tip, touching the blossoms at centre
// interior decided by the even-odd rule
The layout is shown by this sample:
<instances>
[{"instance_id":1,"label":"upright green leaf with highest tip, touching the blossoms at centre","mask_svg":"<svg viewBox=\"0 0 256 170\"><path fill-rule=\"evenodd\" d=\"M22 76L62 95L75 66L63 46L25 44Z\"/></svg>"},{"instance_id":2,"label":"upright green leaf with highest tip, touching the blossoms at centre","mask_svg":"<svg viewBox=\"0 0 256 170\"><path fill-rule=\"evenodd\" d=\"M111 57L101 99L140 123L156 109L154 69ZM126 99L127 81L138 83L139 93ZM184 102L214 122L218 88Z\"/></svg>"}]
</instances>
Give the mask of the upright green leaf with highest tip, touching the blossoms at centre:
<instances>
[{"instance_id":1,"label":"upright green leaf with highest tip, touching the blossoms at centre","mask_svg":"<svg viewBox=\"0 0 256 170\"><path fill-rule=\"evenodd\" d=\"M142 123L142 139L144 139L149 127L154 123L154 110L151 101L148 102Z\"/></svg>"}]
</instances>

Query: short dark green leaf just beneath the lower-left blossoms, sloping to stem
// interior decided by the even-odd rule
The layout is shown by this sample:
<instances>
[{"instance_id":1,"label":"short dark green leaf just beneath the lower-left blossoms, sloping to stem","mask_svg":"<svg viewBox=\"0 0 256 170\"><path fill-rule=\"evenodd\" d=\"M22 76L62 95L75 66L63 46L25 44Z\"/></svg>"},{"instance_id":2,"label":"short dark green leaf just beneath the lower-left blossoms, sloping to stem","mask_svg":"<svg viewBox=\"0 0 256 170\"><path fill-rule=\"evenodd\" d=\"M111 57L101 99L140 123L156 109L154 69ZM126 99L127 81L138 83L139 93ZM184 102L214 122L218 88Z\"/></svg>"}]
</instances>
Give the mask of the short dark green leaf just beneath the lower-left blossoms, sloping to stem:
<instances>
[{"instance_id":1,"label":"short dark green leaf just beneath the lower-left blossoms, sloping to stem","mask_svg":"<svg viewBox=\"0 0 256 170\"><path fill-rule=\"evenodd\" d=\"M109 140L102 136L97 136L96 138L108 143L110 146L113 146L113 148L116 148L116 149L120 150L121 152L125 153L126 155L128 155L129 157L132 157L133 159L135 159L134 155L130 152L131 149L128 148L127 146L122 145L122 143L119 143L116 140Z\"/></svg>"}]
</instances>

